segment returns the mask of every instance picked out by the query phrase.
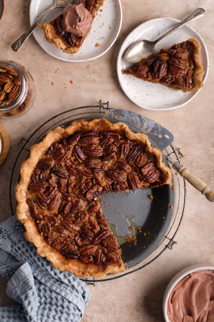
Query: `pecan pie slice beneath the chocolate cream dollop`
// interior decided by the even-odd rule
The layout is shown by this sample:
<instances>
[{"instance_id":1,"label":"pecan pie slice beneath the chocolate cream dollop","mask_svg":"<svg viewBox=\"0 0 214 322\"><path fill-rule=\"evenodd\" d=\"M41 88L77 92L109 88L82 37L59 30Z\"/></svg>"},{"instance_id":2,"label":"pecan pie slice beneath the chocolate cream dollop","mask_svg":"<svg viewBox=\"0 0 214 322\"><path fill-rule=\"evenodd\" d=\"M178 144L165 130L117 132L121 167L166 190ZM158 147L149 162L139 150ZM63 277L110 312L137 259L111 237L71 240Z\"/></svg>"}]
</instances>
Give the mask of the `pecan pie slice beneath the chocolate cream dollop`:
<instances>
[{"instance_id":1,"label":"pecan pie slice beneath the chocolate cream dollop","mask_svg":"<svg viewBox=\"0 0 214 322\"><path fill-rule=\"evenodd\" d=\"M92 15L92 19L96 16L99 7L103 5L104 0L80 0L78 4L83 5ZM84 37L75 36L72 33L64 31L62 27L63 14L60 14L56 19L48 24L38 24L44 29L45 38L48 43L53 43L57 48L62 49L69 55L78 52L84 39L90 33L90 29ZM93 22L93 20L92 20Z\"/></svg>"}]
</instances>

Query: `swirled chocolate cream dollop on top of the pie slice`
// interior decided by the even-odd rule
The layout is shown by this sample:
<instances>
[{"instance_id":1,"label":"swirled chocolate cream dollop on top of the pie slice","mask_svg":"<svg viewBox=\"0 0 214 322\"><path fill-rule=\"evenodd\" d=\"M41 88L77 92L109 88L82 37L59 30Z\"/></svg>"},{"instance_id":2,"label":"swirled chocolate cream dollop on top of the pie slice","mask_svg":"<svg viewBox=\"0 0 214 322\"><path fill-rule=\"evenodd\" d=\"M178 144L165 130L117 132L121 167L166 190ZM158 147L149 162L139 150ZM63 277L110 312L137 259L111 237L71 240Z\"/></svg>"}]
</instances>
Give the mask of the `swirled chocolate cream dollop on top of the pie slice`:
<instances>
[{"instance_id":1,"label":"swirled chocolate cream dollop on top of the pie slice","mask_svg":"<svg viewBox=\"0 0 214 322\"><path fill-rule=\"evenodd\" d=\"M67 5L63 11L62 26L64 31L84 37L90 29L92 15L84 5Z\"/></svg>"}]
</instances>

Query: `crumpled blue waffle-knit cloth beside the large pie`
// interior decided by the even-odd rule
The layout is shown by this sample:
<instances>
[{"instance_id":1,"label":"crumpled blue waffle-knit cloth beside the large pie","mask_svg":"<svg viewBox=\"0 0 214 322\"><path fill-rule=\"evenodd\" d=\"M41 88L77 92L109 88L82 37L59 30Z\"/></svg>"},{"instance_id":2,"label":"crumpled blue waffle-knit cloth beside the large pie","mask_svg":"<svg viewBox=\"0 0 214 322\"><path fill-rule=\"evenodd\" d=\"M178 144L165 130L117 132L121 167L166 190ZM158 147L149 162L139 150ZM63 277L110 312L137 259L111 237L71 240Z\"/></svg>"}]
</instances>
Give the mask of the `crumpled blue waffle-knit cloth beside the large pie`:
<instances>
[{"instance_id":1,"label":"crumpled blue waffle-knit cloth beside the large pie","mask_svg":"<svg viewBox=\"0 0 214 322\"><path fill-rule=\"evenodd\" d=\"M86 284L59 271L24 239L16 216L0 225L0 274L6 293L22 306L0 308L4 322L79 322L90 299Z\"/></svg>"}]
</instances>

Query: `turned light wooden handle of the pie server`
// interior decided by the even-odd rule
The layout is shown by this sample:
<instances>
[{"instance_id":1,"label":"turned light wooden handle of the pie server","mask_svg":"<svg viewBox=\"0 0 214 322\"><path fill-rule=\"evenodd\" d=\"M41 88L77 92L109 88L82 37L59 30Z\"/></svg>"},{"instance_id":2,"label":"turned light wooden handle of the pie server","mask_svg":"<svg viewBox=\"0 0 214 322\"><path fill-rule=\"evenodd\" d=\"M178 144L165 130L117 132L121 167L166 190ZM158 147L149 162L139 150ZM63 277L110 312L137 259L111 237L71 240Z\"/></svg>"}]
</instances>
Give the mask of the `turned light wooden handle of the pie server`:
<instances>
[{"instance_id":1,"label":"turned light wooden handle of the pie server","mask_svg":"<svg viewBox=\"0 0 214 322\"><path fill-rule=\"evenodd\" d=\"M196 177L196 175L193 175L193 173L189 169L181 166L181 168L178 170L178 173L182 177L184 177L193 187L204 194L210 202L214 202L214 190L211 190L210 187L208 187L208 185L206 185L201 179Z\"/></svg>"}]
</instances>

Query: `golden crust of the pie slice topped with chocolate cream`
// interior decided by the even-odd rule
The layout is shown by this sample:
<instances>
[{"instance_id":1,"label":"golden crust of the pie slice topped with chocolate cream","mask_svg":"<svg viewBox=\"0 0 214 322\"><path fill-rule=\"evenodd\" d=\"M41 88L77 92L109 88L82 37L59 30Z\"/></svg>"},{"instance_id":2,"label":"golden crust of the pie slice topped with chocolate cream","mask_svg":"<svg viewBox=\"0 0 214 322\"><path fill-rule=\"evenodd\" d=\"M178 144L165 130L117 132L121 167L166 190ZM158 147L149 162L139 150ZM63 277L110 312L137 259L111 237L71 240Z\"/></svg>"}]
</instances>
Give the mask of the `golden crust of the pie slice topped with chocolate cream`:
<instances>
[{"instance_id":1,"label":"golden crust of the pie slice topped with chocolate cream","mask_svg":"<svg viewBox=\"0 0 214 322\"><path fill-rule=\"evenodd\" d=\"M100 6L103 5L103 1L104 0L98 0L97 3L93 6L91 15L92 15L92 22L94 20L94 17L96 16L98 9ZM85 3L87 3L86 1L79 1L79 3L82 3L83 5L86 6ZM60 18L61 15L59 15L58 17L56 17L56 19ZM42 28L44 30L45 33L45 39L48 43L53 43L56 45L57 48L62 49L63 52L66 52L69 55L73 55L74 53L78 52L83 41L86 39L86 37L88 36L88 34L91 31L91 28L89 29L89 31L86 33L86 35L84 37L78 37L78 36L74 36L75 38L75 45L69 45L62 37L60 37L57 32L56 29L53 25L53 22L56 20L54 19L52 22L48 23L48 24L38 24L38 26L40 28Z\"/></svg>"}]
</instances>

